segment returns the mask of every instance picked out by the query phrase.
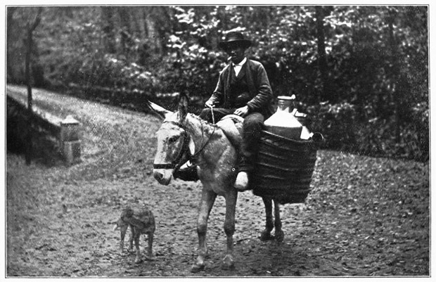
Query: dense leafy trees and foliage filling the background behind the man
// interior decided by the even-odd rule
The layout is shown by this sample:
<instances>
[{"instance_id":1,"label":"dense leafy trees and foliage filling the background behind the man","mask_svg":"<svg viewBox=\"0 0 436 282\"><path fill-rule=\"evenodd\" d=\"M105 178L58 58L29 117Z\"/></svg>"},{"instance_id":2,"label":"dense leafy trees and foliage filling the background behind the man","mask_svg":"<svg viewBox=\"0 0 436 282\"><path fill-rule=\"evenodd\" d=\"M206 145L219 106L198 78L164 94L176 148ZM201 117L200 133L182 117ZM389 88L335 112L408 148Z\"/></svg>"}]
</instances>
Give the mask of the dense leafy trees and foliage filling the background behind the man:
<instances>
[{"instance_id":1,"label":"dense leafy trees and foliage filling the background behind the man","mask_svg":"<svg viewBox=\"0 0 436 282\"><path fill-rule=\"evenodd\" d=\"M9 82L23 82L32 9L8 8ZM252 39L274 94L295 94L328 148L428 160L428 6L44 7L34 85L187 91L202 105L229 30Z\"/></svg>"}]
</instances>

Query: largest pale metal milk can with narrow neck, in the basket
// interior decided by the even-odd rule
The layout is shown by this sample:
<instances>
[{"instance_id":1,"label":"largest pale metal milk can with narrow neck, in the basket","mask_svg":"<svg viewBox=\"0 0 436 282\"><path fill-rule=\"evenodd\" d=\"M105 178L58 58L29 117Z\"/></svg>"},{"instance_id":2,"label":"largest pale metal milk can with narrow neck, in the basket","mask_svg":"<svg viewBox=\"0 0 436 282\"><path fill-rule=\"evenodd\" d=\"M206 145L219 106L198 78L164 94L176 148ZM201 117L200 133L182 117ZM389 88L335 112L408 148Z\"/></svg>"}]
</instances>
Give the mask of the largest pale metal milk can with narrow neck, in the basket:
<instances>
[{"instance_id":1,"label":"largest pale metal milk can with narrow neck, in the basket","mask_svg":"<svg viewBox=\"0 0 436 282\"><path fill-rule=\"evenodd\" d=\"M264 127L267 132L283 136L288 139L300 139L302 124L291 112L291 105L295 96L278 96L277 110L274 115L265 120Z\"/></svg>"}]
</instances>

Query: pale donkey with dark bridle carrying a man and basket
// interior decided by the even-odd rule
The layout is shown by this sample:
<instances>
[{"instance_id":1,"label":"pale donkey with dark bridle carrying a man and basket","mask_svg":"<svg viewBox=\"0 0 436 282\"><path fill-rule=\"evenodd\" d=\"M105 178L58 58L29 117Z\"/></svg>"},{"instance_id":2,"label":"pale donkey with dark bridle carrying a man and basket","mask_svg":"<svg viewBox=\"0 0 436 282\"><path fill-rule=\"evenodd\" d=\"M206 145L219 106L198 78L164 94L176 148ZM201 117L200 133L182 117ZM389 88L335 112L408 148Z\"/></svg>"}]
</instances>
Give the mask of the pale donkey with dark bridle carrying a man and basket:
<instances>
[{"instance_id":1,"label":"pale donkey with dark bridle carrying a man and basket","mask_svg":"<svg viewBox=\"0 0 436 282\"><path fill-rule=\"evenodd\" d=\"M188 113L188 98L181 96L177 112L148 101L152 110L164 117L157 132L158 148L155 155L153 176L163 185L168 185L173 173L186 161L186 154L198 167L198 178L203 184L200 209L198 212L198 257L191 268L198 272L205 268L207 255L206 232L207 219L214 205L214 200L224 196L226 215L224 232L226 233L226 255L222 260L223 269L234 268L233 233L235 231L235 209L238 191L233 187L236 180L237 149L232 145L226 134L215 124L206 122L197 115ZM267 209L267 228L262 232L261 240L271 238L273 229L271 199L264 199ZM276 234L281 234L279 208L276 204ZM276 235L277 238L277 235ZM280 240L280 238L278 238Z\"/></svg>"}]
</instances>

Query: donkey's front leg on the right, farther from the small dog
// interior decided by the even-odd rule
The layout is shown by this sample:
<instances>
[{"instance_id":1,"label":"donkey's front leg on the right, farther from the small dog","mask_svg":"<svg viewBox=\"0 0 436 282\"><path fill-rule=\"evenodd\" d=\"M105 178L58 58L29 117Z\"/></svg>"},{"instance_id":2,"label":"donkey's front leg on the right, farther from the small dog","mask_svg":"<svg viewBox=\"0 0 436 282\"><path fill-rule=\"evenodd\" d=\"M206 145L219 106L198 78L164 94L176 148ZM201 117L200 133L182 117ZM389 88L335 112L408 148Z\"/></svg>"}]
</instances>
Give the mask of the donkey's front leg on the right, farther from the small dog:
<instances>
[{"instance_id":1,"label":"donkey's front leg on the right, farther from the small dog","mask_svg":"<svg viewBox=\"0 0 436 282\"><path fill-rule=\"evenodd\" d=\"M226 195L226 219L224 220L224 232L227 237L226 256L222 261L223 269L233 269L235 261L233 258L233 233L235 233L235 210L238 191L231 189Z\"/></svg>"}]
</instances>

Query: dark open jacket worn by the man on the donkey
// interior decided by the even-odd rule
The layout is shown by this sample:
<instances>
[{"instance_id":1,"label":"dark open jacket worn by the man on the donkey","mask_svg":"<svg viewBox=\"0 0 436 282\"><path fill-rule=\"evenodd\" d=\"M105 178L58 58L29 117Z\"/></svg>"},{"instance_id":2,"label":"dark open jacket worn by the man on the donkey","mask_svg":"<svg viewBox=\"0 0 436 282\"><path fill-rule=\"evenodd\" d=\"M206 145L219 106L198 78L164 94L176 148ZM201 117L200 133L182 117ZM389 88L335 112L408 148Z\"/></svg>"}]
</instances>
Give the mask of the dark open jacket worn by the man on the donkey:
<instances>
[{"instance_id":1,"label":"dark open jacket worn by the man on the donkey","mask_svg":"<svg viewBox=\"0 0 436 282\"><path fill-rule=\"evenodd\" d=\"M266 118L269 117L274 113L272 105L274 97L264 66L256 60L247 59L243 68L245 68L245 79L250 92L250 100L247 102L250 113L258 112ZM233 108L229 93L231 70L231 64L229 64L219 73L217 88L209 98L209 101L212 101L217 108Z\"/></svg>"}]
</instances>

